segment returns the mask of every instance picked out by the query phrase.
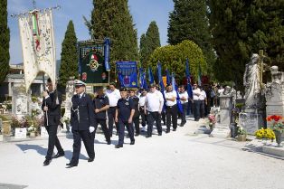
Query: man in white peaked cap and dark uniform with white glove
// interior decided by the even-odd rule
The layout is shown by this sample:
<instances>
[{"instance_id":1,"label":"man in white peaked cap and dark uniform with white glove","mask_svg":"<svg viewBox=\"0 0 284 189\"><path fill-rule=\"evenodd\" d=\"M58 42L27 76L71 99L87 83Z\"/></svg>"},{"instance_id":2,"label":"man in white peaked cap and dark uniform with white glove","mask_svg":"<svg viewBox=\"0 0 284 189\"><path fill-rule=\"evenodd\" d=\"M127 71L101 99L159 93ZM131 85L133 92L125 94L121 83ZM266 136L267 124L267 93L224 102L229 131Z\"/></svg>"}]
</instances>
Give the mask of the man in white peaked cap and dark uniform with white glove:
<instances>
[{"instance_id":1,"label":"man in white peaked cap and dark uniform with white glove","mask_svg":"<svg viewBox=\"0 0 284 189\"><path fill-rule=\"evenodd\" d=\"M73 134L73 156L66 168L77 166L80 156L80 141L86 147L89 159L92 162L95 158L94 151L94 131L95 114L90 97L84 92L86 84L80 80L75 80L76 95L71 99L71 131Z\"/></svg>"}]
</instances>

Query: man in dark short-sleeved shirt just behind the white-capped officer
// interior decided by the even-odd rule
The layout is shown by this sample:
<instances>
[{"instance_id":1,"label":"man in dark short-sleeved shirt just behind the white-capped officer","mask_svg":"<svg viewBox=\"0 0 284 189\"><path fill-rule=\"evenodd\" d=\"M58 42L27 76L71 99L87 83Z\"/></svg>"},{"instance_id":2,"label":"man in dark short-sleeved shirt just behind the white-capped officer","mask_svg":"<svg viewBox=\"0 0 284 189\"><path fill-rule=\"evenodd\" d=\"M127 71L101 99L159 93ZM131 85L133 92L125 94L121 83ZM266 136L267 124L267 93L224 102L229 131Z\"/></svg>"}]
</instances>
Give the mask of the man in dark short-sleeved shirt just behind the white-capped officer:
<instances>
[{"instance_id":1,"label":"man in dark short-sleeved shirt just behind the white-capped officer","mask_svg":"<svg viewBox=\"0 0 284 189\"><path fill-rule=\"evenodd\" d=\"M111 144L109 129L107 127L107 109L109 109L109 98L103 93L103 88L97 90L97 97L93 99L94 111L95 111L95 133L98 125L101 126L102 131L106 137L108 145Z\"/></svg>"}]
</instances>

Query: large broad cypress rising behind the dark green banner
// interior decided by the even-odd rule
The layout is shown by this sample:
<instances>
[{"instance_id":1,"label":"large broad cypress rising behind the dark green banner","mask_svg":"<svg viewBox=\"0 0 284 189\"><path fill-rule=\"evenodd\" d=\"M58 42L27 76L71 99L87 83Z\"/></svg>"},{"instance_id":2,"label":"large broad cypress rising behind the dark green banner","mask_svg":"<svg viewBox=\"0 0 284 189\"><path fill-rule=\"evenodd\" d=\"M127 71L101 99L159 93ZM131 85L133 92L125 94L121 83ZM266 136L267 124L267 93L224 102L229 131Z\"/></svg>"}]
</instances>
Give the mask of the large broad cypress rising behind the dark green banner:
<instances>
[{"instance_id":1,"label":"large broad cypress rising behind the dark green banner","mask_svg":"<svg viewBox=\"0 0 284 189\"><path fill-rule=\"evenodd\" d=\"M93 1L89 30L92 38L111 41L110 60L137 60L137 30L128 10L128 0Z\"/></svg>"}]
</instances>

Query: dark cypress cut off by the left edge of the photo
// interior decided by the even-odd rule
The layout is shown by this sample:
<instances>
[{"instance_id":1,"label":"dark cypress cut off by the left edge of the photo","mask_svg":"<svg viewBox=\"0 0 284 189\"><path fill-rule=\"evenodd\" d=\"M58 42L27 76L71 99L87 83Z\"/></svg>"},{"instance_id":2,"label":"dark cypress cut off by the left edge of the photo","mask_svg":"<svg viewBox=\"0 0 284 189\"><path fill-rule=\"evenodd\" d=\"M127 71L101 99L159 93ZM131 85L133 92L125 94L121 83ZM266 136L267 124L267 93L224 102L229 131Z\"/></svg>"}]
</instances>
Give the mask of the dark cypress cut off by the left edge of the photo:
<instances>
[{"instance_id":1,"label":"dark cypress cut off by the left edge of the photo","mask_svg":"<svg viewBox=\"0 0 284 189\"><path fill-rule=\"evenodd\" d=\"M0 3L0 84L3 83L9 71L10 30L7 25L7 0Z\"/></svg>"}]
</instances>

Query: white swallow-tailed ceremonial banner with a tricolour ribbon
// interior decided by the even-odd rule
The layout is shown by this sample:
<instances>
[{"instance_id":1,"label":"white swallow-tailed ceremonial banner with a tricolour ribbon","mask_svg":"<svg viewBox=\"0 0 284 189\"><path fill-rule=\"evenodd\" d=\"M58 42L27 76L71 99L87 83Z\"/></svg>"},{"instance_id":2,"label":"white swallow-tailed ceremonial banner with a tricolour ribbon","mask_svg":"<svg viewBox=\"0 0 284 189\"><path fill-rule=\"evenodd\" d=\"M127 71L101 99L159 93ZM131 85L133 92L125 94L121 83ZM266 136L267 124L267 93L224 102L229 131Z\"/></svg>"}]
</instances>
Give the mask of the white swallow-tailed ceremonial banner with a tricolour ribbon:
<instances>
[{"instance_id":1,"label":"white swallow-tailed ceremonial banner with a tricolour ribbon","mask_svg":"<svg viewBox=\"0 0 284 189\"><path fill-rule=\"evenodd\" d=\"M27 15L19 16L19 27L26 91L40 71L45 72L55 86L56 60L52 10L34 10Z\"/></svg>"}]
</instances>

